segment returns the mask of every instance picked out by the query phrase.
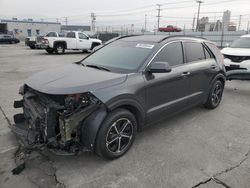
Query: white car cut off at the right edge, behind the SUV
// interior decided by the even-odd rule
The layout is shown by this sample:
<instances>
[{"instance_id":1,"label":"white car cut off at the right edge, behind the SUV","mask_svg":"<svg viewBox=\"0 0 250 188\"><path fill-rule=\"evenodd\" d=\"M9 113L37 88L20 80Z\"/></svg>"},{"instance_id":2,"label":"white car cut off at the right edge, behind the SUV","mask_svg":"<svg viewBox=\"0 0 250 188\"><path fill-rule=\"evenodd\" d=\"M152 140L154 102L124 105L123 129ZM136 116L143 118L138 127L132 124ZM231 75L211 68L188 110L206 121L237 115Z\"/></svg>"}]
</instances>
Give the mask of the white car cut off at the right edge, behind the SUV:
<instances>
[{"instance_id":1,"label":"white car cut off at the right edge, behind the SUV","mask_svg":"<svg viewBox=\"0 0 250 188\"><path fill-rule=\"evenodd\" d=\"M250 35L243 35L235 40L229 47L221 50L225 57L227 71L250 71Z\"/></svg>"}]
</instances>

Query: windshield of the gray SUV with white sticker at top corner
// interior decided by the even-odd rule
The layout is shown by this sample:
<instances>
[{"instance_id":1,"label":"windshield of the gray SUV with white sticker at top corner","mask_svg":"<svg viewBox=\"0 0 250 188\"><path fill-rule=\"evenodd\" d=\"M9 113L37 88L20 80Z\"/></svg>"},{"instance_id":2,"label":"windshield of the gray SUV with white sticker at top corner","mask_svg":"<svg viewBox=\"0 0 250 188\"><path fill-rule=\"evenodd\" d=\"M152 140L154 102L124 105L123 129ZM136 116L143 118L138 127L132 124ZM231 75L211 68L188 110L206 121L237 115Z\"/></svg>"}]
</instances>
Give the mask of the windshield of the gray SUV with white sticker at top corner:
<instances>
[{"instance_id":1,"label":"windshield of the gray SUV with white sticker at top corner","mask_svg":"<svg viewBox=\"0 0 250 188\"><path fill-rule=\"evenodd\" d=\"M153 47L154 44L116 41L85 58L82 64L104 67L112 72L136 72Z\"/></svg>"}]
</instances>

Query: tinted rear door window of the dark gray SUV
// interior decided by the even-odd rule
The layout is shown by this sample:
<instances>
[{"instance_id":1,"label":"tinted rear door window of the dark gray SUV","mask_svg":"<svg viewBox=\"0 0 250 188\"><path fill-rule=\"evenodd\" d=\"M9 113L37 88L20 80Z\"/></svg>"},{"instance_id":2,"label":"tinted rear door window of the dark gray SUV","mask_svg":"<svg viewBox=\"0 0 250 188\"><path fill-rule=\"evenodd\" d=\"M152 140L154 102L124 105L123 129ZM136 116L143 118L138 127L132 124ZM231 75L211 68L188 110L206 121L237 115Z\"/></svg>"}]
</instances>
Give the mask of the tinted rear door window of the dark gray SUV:
<instances>
[{"instance_id":1,"label":"tinted rear door window of the dark gray SUV","mask_svg":"<svg viewBox=\"0 0 250 188\"><path fill-rule=\"evenodd\" d=\"M201 43L185 42L184 44L187 63L206 59L204 49Z\"/></svg>"}]
</instances>

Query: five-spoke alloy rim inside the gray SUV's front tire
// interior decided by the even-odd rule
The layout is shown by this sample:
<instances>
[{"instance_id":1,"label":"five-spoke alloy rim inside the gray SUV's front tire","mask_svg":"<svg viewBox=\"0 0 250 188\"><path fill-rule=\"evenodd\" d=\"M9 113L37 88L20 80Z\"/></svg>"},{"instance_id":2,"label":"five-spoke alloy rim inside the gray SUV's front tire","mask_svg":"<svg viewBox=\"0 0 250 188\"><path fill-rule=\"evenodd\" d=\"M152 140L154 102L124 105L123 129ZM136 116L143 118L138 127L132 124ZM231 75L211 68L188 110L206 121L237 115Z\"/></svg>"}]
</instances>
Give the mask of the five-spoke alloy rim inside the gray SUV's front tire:
<instances>
[{"instance_id":1,"label":"five-spoke alloy rim inside the gray SUV's front tire","mask_svg":"<svg viewBox=\"0 0 250 188\"><path fill-rule=\"evenodd\" d=\"M133 138L133 124L127 118L118 119L109 128L106 136L106 148L119 154L126 151Z\"/></svg>"}]
</instances>

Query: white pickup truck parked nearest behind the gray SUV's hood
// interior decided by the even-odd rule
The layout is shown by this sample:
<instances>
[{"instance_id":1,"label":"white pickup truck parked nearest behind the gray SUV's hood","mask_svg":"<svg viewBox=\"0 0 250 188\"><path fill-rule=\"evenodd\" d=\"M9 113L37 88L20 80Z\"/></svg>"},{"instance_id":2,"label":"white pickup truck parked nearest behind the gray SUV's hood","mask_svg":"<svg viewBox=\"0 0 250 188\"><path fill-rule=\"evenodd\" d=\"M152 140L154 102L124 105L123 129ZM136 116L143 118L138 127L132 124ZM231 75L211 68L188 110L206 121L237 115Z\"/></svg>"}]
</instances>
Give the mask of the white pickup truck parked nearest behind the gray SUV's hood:
<instances>
[{"instance_id":1,"label":"white pickup truck parked nearest behind the gray SUV's hood","mask_svg":"<svg viewBox=\"0 0 250 188\"><path fill-rule=\"evenodd\" d=\"M41 47L49 54L64 54L65 50L88 51L102 44L99 39L92 39L80 31L71 31L65 37L44 37Z\"/></svg>"}]
</instances>

